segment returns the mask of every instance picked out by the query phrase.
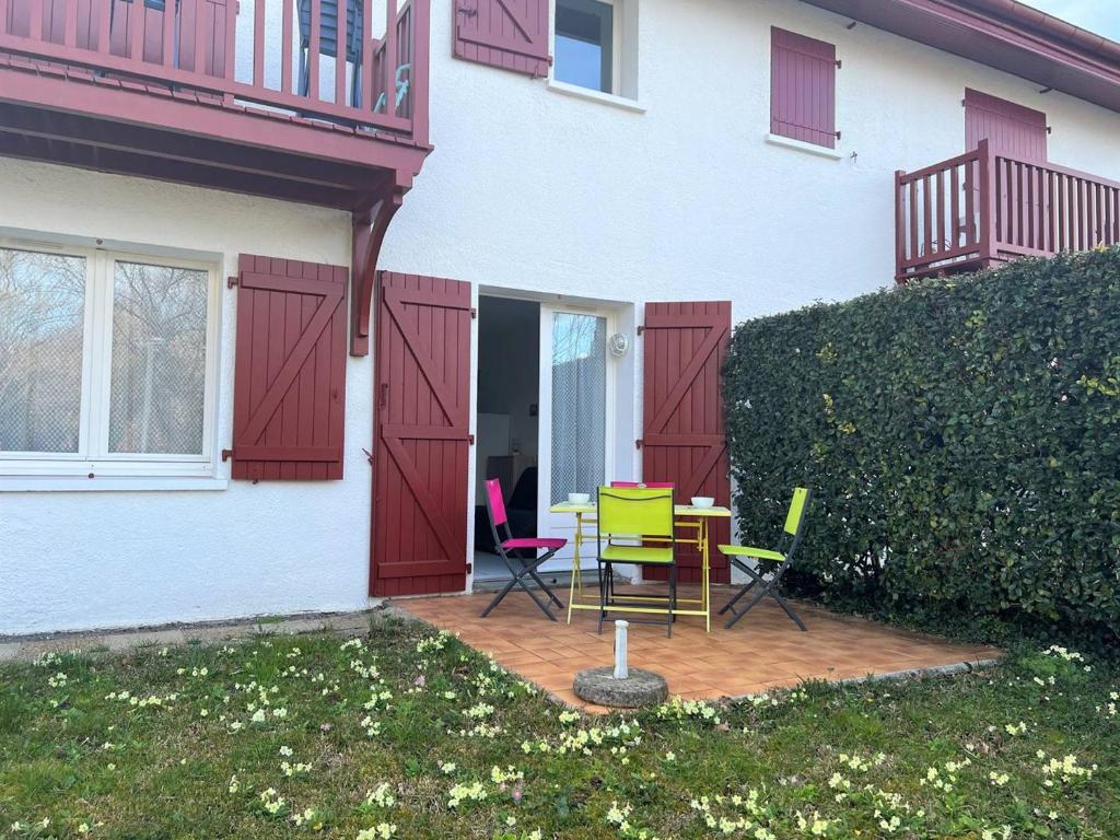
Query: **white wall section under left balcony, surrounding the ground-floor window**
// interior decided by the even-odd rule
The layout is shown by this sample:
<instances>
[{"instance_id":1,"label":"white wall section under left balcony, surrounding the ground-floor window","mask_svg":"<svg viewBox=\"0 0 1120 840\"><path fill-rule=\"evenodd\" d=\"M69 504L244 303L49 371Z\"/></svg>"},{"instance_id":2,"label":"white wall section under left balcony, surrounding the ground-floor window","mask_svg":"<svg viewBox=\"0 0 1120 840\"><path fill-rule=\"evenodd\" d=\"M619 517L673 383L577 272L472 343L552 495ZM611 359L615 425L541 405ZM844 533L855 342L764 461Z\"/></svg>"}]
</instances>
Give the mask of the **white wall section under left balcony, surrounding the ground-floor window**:
<instances>
[{"instance_id":1,"label":"white wall section under left balcony, surrounding the ground-floor window","mask_svg":"<svg viewBox=\"0 0 1120 840\"><path fill-rule=\"evenodd\" d=\"M349 262L349 218L335 211L9 158L0 183L0 227L204 251L223 280L240 253ZM236 292L220 289L215 450L233 422ZM370 360L349 360L342 482L0 492L0 634L363 607L370 372ZM228 470L218 460L217 475Z\"/></svg>"}]
</instances>

